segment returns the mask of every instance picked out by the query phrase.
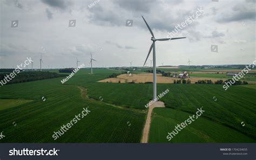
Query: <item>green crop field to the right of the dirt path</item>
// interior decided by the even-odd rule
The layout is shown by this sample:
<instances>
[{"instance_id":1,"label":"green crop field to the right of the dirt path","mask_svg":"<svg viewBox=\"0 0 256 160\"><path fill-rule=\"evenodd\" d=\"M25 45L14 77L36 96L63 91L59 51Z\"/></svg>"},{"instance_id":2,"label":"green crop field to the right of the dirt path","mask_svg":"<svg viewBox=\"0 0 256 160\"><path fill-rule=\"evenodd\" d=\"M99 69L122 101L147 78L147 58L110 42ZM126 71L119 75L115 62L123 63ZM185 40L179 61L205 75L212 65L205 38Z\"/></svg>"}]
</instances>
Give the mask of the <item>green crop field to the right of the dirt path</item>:
<instances>
[{"instance_id":1,"label":"green crop field to the right of the dirt path","mask_svg":"<svg viewBox=\"0 0 256 160\"><path fill-rule=\"evenodd\" d=\"M254 86L254 85L248 85ZM189 115L195 114L197 108L203 106L205 113L199 117L199 123L193 123L189 127L194 127L200 129L202 132L207 132L209 128L207 126L216 126L220 127L223 126L224 128L229 128L229 131L222 131L223 134L217 133L216 128L212 127L211 131L212 134L218 134L222 136L214 135L213 140L211 140L211 135L206 134L205 138L196 138L193 139L193 142L240 142L237 140L229 140L229 138L223 138L224 136L231 136L232 134L237 133L240 131L240 134L244 134L243 137L247 138L249 142L252 139L255 142L255 130L256 130L256 123L254 118L256 116L256 108L255 108L255 99L254 95L256 90L253 88L246 88L241 86L232 86L227 91L224 91L221 88L221 85L170 85L164 86L160 85L161 88L170 88L170 94L164 96L162 101L165 102L165 106L167 108L172 108L177 110L177 112L168 111L166 108L162 110L160 108L155 108L153 111L156 110L156 114L153 114L152 120L152 128L151 128L151 135L150 141L151 142L166 142L166 136L168 132L171 132L175 129L175 125L169 125L166 123L172 124L173 122L181 122L185 121ZM208 92L211 91L211 92ZM216 101L214 101L214 96ZM242 110L242 112L241 112ZM170 114L168 114L170 113ZM180 119L180 114L185 117ZM158 123L159 120L164 120L165 123ZM156 122L154 122L156 121ZM204 123L203 123L204 121ZM196 120L197 122L197 120ZM202 122L202 123L201 123ZM207 123L209 122L209 123ZM241 126L241 122L246 122L246 127ZM176 123L178 124L178 123ZM204 125L203 125L204 124ZM198 126L197 126L198 125ZM171 126L171 127L170 127ZM168 128L166 128L168 127ZM162 129L159 129L162 128ZM164 129L165 128L165 129ZM232 131L233 130L233 131ZM157 132L156 132L157 131ZM182 133L180 131L180 133ZM186 131L184 131L186 132ZM163 136L165 135L165 138ZM202 136L203 134L200 134ZM184 136L188 136L184 133ZM199 136L199 137L200 137ZM213 135L212 135L213 136ZM182 134L179 134L181 139L185 138L184 141L180 142L189 142L186 138L190 137L183 137ZM162 139L161 139L162 138ZM159 141L158 141L159 140ZM226 140L226 141L223 141ZM240 138L240 140L242 140ZM173 138L173 142L176 141L176 137Z\"/></svg>"}]
</instances>

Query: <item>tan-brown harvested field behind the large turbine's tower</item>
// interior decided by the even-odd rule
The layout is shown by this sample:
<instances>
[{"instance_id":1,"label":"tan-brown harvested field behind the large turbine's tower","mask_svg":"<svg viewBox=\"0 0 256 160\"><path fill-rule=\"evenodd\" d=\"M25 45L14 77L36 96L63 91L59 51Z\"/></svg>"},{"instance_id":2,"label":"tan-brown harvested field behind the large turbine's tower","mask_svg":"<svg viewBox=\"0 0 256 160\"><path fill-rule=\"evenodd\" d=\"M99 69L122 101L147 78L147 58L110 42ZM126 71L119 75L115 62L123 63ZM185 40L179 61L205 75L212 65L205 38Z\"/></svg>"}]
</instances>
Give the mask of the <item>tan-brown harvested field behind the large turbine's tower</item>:
<instances>
[{"instance_id":1,"label":"tan-brown harvested field behind the large turbine's tower","mask_svg":"<svg viewBox=\"0 0 256 160\"><path fill-rule=\"evenodd\" d=\"M166 76L161 76L161 74L157 74L157 83L158 84L173 84L173 80L179 80L180 78L171 78ZM193 78L186 78L191 80L191 83L194 84L198 80L212 80L213 82L220 80L218 78L200 78L200 77L193 77ZM100 80L98 82L112 82L112 83L125 83L125 82L132 82L135 83L145 83L145 82L153 82L153 73L140 73L140 74L121 74L118 75L117 78L107 78L104 80Z\"/></svg>"}]
</instances>

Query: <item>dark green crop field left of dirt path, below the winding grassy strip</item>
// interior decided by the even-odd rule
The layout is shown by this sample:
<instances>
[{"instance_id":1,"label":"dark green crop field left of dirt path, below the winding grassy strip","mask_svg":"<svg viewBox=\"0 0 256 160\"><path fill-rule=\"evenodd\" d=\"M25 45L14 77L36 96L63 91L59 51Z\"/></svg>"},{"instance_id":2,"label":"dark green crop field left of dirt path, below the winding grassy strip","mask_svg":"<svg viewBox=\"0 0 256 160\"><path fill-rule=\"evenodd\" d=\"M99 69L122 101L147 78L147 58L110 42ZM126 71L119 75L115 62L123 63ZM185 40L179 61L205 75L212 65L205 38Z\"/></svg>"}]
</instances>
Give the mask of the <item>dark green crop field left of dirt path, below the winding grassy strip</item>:
<instances>
[{"instance_id":1,"label":"dark green crop field left of dirt path, below the winding grassy strip","mask_svg":"<svg viewBox=\"0 0 256 160\"><path fill-rule=\"evenodd\" d=\"M105 70L90 75L84 71L71 80L84 75L83 83L91 85L91 81L95 82L108 73ZM34 100L0 111L0 129L6 136L1 142L140 142L145 113L83 99L78 87L62 85L60 80L56 78L1 87L1 99ZM56 141L53 140L53 131L59 130L86 107L91 113ZM15 127L13 122L17 123Z\"/></svg>"}]
</instances>

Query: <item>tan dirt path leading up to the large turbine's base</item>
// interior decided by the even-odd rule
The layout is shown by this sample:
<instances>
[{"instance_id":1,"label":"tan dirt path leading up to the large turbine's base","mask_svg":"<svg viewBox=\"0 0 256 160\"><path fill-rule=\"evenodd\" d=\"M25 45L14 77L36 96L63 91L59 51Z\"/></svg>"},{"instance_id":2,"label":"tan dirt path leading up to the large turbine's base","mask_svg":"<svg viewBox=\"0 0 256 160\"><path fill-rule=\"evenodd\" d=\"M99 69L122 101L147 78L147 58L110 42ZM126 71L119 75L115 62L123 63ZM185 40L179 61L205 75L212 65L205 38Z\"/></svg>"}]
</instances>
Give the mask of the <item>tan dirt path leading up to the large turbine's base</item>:
<instances>
[{"instance_id":1,"label":"tan dirt path leading up to the large turbine's base","mask_svg":"<svg viewBox=\"0 0 256 160\"><path fill-rule=\"evenodd\" d=\"M149 112L147 113L146 124L145 124L144 129L143 129L142 143L147 143L149 141L151 114L152 114L153 108L156 108L156 107L165 107L164 102L157 101L157 102L154 102L151 106L149 106Z\"/></svg>"}]
</instances>

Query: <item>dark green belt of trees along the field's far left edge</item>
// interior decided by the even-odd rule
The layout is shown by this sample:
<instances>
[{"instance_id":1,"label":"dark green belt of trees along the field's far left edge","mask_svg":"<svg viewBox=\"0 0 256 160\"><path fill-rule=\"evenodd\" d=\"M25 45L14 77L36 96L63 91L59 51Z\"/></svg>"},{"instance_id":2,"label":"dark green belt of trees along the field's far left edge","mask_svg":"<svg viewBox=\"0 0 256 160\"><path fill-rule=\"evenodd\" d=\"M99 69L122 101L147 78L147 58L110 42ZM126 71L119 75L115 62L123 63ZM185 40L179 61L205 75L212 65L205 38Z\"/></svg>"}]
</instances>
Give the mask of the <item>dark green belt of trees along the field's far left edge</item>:
<instances>
[{"instance_id":1,"label":"dark green belt of trees along the field's far left edge","mask_svg":"<svg viewBox=\"0 0 256 160\"><path fill-rule=\"evenodd\" d=\"M5 79L6 73L0 73L0 80ZM61 76L68 76L65 74L58 74L54 72L21 72L12 78L6 84L17 84L22 82L30 82L43 79L58 78ZM9 79L8 79L9 80ZM3 80L5 82L5 80Z\"/></svg>"}]
</instances>

